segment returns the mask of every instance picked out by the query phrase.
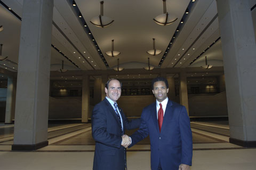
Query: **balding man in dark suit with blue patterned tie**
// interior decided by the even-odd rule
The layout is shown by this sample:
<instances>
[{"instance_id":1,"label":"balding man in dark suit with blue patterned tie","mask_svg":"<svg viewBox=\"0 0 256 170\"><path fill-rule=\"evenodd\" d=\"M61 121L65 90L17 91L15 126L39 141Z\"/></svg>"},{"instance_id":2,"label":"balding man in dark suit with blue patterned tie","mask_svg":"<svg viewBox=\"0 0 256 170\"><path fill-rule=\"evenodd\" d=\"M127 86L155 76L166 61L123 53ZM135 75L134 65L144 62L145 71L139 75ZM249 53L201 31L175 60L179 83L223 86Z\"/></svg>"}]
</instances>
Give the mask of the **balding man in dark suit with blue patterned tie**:
<instances>
[{"instance_id":1,"label":"balding man in dark suit with blue patterned tie","mask_svg":"<svg viewBox=\"0 0 256 170\"><path fill-rule=\"evenodd\" d=\"M116 101L121 96L122 83L109 79L106 98L92 111L92 136L95 140L94 170L126 169L126 147L131 143L125 129L138 128L140 119L129 121Z\"/></svg>"}]
</instances>

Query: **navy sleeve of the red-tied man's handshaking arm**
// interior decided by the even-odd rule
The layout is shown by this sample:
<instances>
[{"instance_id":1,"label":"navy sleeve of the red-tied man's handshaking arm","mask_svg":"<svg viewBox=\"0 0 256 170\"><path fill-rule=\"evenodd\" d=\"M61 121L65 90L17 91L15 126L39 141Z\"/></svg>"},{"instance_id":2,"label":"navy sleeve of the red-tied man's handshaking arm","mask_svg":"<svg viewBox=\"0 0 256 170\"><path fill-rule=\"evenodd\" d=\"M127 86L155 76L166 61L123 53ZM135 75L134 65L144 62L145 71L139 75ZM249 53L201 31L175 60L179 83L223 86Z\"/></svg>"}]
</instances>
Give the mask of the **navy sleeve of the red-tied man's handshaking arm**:
<instances>
[{"instance_id":1,"label":"navy sleeve of the red-tied man's handshaking arm","mask_svg":"<svg viewBox=\"0 0 256 170\"><path fill-rule=\"evenodd\" d=\"M147 122L146 122L146 111L145 109L143 109L142 114L141 114L141 118L140 118L140 128L138 129L138 131L134 132L130 137L132 139L132 144L129 146L129 148L131 148L134 144L140 142L141 140L145 139L145 137L148 136L149 132L148 132L148 126L147 126Z\"/></svg>"}]
</instances>

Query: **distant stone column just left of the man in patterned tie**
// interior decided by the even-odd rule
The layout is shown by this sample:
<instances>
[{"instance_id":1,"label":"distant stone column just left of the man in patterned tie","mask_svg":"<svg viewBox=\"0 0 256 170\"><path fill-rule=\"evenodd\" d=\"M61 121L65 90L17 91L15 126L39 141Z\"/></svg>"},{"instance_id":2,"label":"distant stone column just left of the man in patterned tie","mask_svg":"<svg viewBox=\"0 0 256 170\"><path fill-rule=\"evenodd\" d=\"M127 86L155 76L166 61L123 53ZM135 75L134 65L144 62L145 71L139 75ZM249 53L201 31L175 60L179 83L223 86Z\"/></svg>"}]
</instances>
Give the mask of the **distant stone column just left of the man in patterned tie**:
<instances>
[{"instance_id":1,"label":"distant stone column just left of the man in patterned tie","mask_svg":"<svg viewBox=\"0 0 256 170\"><path fill-rule=\"evenodd\" d=\"M90 76L83 75L82 80L82 123L87 123L90 113Z\"/></svg>"}]
</instances>

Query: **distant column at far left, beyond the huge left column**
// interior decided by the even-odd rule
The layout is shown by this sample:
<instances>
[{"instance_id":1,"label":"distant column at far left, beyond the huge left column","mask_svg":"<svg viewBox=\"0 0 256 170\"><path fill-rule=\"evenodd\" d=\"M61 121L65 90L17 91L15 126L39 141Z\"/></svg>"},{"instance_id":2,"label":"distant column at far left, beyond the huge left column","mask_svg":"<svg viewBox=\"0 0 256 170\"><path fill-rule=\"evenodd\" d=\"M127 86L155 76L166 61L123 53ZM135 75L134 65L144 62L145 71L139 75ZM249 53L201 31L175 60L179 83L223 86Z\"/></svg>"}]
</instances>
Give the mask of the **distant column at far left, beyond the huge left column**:
<instances>
[{"instance_id":1,"label":"distant column at far left, beyond the huge left column","mask_svg":"<svg viewBox=\"0 0 256 170\"><path fill-rule=\"evenodd\" d=\"M12 124L12 92L13 92L13 78L8 77L7 93L6 93L6 107L5 107L5 124Z\"/></svg>"}]
</instances>

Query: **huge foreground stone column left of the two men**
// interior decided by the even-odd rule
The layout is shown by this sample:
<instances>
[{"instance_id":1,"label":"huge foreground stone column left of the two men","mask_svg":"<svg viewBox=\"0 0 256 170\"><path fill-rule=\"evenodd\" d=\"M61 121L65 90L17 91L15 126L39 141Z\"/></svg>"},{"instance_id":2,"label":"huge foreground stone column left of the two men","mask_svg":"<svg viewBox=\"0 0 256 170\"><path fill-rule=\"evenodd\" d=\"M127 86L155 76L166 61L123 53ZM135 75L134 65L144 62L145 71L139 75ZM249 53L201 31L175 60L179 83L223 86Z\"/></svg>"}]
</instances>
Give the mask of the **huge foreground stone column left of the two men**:
<instances>
[{"instance_id":1,"label":"huge foreground stone column left of the two men","mask_svg":"<svg viewBox=\"0 0 256 170\"><path fill-rule=\"evenodd\" d=\"M24 0L12 150L48 145L52 0Z\"/></svg>"}]
</instances>

